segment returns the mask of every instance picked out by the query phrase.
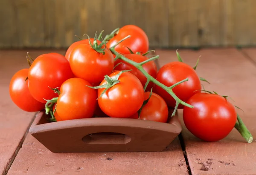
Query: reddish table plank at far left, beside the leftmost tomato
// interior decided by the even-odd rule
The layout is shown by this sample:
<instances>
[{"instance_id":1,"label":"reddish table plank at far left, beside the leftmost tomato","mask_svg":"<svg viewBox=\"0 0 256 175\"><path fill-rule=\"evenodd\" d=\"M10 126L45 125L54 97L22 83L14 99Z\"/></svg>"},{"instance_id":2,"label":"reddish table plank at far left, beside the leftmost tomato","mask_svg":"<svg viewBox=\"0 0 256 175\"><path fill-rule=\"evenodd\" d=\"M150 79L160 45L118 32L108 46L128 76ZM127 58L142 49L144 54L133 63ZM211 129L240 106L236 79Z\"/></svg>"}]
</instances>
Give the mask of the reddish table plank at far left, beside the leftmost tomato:
<instances>
[{"instance_id":1,"label":"reddish table plank at far left, beside the leftmost tomato","mask_svg":"<svg viewBox=\"0 0 256 175\"><path fill-rule=\"evenodd\" d=\"M31 52L33 57L43 52ZM35 113L23 112L9 96L9 83L20 69L28 68L26 51L0 51L0 174L6 174L23 143Z\"/></svg>"}]
</instances>

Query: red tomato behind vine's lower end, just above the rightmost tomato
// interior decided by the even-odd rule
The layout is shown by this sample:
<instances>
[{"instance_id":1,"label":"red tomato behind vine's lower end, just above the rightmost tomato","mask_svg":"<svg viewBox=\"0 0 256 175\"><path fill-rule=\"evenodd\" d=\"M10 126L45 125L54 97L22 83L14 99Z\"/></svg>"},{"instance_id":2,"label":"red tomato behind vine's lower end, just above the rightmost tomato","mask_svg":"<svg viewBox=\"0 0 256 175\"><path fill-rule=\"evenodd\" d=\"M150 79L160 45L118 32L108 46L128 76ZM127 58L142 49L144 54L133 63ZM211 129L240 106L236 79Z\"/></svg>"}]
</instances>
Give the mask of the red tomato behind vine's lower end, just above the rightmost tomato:
<instances>
[{"instance_id":1,"label":"red tomato behind vine's lower end, just above the rightmost tomato","mask_svg":"<svg viewBox=\"0 0 256 175\"><path fill-rule=\"evenodd\" d=\"M172 89L180 100L186 102L192 95L199 93L199 90L201 90L201 81L191 66L178 61L167 63L159 69L156 79L166 86L172 86L186 78L189 78L189 80ZM160 95L168 106L175 107L176 101L174 98L160 86L155 86L154 92ZM179 105L178 108L182 109L183 105Z\"/></svg>"}]
</instances>

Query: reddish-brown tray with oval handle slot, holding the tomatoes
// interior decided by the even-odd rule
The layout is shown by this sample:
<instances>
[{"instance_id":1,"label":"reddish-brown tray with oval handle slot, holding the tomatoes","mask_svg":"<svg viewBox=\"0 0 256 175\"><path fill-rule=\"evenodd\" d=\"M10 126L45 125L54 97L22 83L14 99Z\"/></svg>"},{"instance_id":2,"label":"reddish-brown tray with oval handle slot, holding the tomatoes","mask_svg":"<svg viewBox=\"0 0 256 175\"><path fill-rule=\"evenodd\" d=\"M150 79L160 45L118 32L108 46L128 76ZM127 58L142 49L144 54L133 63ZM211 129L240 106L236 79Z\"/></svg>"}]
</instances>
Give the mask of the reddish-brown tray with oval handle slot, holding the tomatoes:
<instances>
[{"instance_id":1,"label":"reddish-brown tray with oval handle slot, holding the tomatoes","mask_svg":"<svg viewBox=\"0 0 256 175\"><path fill-rule=\"evenodd\" d=\"M41 111L29 132L52 152L153 152L163 151L181 132L181 126L177 116L168 123L130 118L48 123Z\"/></svg>"}]
</instances>

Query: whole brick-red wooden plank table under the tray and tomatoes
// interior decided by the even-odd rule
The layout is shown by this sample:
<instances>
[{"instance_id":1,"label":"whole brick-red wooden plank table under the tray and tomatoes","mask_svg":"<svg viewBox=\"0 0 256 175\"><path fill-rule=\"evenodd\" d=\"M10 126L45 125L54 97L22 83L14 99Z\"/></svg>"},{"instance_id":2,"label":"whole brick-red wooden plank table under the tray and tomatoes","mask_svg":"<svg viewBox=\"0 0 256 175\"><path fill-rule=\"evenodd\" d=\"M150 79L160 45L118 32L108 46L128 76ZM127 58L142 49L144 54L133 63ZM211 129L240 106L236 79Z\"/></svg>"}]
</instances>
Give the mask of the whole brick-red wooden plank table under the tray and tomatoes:
<instances>
[{"instance_id":1,"label":"whole brick-red wooden plank table under the tray and tomatoes","mask_svg":"<svg viewBox=\"0 0 256 175\"><path fill-rule=\"evenodd\" d=\"M27 51L0 51L0 172L3 175L169 175L256 174L256 142L246 143L235 129L221 141L195 138L183 124L179 138L164 152L52 153L28 134L34 113L18 109L9 98L9 81L27 68ZM30 51L32 57L53 51ZM61 54L64 51L54 51ZM206 89L228 95L256 137L256 49L180 50L183 60L211 84ZM177 60L175 50L157 50L159 66ZM182 111L179 111L180 121Z\"/></svg>"}]
</instances>

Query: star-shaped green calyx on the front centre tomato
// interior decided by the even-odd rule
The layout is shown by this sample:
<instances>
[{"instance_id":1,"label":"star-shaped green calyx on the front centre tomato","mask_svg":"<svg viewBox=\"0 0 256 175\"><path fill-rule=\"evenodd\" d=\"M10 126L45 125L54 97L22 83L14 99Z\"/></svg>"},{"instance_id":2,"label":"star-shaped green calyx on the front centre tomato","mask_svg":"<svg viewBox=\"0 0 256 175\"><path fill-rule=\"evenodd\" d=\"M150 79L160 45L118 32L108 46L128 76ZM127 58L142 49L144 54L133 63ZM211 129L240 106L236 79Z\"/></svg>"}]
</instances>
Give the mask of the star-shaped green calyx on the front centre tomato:
<instances>
[{"instance_id":1,"label":"star-shaped green calyx on the front centre tomato","mask_svg":"<svg viewBox=\"0 0 256 175\"><path fill-rule=\"evenodd\" d=\"M105 94L105 92L110 89L111 87L115 86L117 83L119 83L120 81L118 80L120 75L124 72L128 72L128 71L131 71L131 70L124 70L124 71L120 71L115 77L111 78L109 77L108 75L105 75L104 77L104 80L107 81L106 84L102 85L102 86L88 86L92 89L100 89L100 88L105 88L104 91L102 92L102 94L99 96L99 98L102 97L102 95ZM97 100L99 99L97 98Z\"/></svg>"}]
</instances>

